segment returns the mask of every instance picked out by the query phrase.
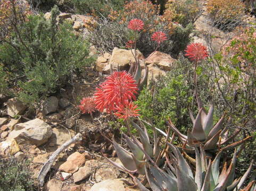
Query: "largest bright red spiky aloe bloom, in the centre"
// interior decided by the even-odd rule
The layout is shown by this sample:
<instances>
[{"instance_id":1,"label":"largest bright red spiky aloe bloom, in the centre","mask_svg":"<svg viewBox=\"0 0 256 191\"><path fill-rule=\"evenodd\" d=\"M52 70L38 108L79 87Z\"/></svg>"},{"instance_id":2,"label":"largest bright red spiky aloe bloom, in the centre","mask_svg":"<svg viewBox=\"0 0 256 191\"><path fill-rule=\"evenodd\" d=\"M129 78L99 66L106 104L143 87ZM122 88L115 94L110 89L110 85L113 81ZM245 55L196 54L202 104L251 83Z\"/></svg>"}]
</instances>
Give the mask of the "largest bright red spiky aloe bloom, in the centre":
<instances>
[{"instance_id":1,"label":"largest bright red spiky aloe bloom, in the centre","mask_svg":"<svg viewBox=\"0 0 256 191\"><path fill-rule=\"evenodd\" d=\"M135 100L137 85L133 76L129 73L114 72L107 77L106 81L96 88L94 94L96 108L100 111L115 111L115 107L126 105L126 100Z\"/></svg>"}]
</instances>

